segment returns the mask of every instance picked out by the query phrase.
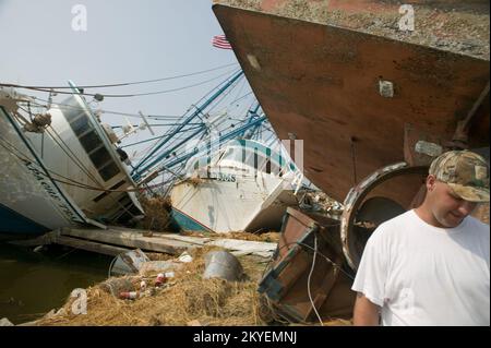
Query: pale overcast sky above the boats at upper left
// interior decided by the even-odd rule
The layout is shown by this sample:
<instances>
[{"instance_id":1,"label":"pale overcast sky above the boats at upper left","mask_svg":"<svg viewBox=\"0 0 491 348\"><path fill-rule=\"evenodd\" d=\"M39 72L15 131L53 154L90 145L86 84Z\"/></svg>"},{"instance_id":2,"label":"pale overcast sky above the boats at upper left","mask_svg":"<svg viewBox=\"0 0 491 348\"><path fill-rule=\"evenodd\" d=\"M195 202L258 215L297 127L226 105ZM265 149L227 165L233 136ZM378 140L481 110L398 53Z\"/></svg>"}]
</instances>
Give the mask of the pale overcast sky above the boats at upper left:
<instances>
[{"instance_id":1,"label":"pale overcast sky above the boats at upper left","mask_svg":"<svg viewBox=\"0 0 491 348\"><path fill-rule=\"evenodd\" d=\"M76 4L86 9L86 31L72 28L74 17L80 14L72 13ZM79 85L108 84L175 76L237 63L231 50L211 45L212 37L218 34L223 31L211 0L0 0L0 81L58 86L67 85L67 80ZM230 69L233 67L104 92L125 94L178 88L213 79ZM101 108L182 115L224 79L176 93L106 98ZM118 117L104 118L113 124Z\"/></svg>"}]
</instances>

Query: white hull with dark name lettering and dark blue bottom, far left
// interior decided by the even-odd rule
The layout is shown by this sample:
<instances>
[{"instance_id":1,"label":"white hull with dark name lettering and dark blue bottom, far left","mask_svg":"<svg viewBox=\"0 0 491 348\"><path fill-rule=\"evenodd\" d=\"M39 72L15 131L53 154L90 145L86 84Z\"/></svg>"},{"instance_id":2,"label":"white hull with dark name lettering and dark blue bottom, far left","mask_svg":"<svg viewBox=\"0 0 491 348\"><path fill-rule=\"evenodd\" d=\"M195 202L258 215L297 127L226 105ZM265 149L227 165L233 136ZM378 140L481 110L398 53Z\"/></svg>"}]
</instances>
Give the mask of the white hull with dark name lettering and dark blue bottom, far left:
<instances>
[{"instance_id":1,"label":"white hull with dark name lettering and dark blue bottom, far left","mask_svg":"<svg viewBox=\"0 0 491 348\"><path fill-rule=\"evenodd\" d=\"M25 237L83 223L84 217L50 179L12 117L0 108L0 233Z\"/></svg>"}]
</instances>

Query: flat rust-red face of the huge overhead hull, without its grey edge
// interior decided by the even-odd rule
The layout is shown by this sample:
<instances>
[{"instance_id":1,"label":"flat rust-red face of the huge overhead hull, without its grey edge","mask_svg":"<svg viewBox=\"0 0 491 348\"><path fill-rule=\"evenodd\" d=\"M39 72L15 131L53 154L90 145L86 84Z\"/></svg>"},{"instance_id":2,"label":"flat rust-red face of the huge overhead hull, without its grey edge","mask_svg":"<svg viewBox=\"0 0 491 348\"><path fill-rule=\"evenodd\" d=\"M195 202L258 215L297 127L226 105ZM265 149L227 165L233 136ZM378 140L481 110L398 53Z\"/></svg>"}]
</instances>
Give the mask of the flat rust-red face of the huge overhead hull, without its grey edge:
<instances>
[{"instance_id":1,"label":"flat rust-red face of the huge overhead hull, without its grey edge","mask_svg":"<svg viewBox=\"0 0 491 348\"><path fill-rule=\"evenodd\" d=\"M286 2L258 3L275 9ZM436 3L458 8L456 1ZM330 2L346 12L372 14L396 5ZM306 177L338 201L359 178L404 159L406 123L452 140L489 81L486 59L226 5L214 5L214 11L276 133L303 140ZM393 97L381 95L381 81L393 84ZM489 93L472 117L470 148L489 146L488 125ZM418 191L397 190L404 196Z\"/></svg>"}]
</instances>

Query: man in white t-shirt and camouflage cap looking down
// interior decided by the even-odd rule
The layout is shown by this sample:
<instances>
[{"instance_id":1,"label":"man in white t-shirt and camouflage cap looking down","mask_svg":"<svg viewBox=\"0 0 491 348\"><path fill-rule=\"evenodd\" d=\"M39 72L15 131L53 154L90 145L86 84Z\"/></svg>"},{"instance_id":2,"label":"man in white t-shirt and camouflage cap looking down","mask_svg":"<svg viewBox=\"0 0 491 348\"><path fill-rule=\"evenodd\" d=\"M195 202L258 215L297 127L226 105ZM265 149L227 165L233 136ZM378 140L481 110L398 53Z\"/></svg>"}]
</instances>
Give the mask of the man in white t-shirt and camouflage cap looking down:
<instances>
[{"instance_id":1,"label":"man in white t-shirt and camouflage cap looking down","mask_svg":"<svg viewBox=\"0 0 491 348\"><path fill-rule=\"evenodd\" d=\"M489 167L468 151L430 166L421 206L380 225L352 290L355 325L490 325Z\"/></svg>"}]
</instances>

